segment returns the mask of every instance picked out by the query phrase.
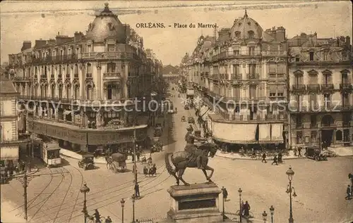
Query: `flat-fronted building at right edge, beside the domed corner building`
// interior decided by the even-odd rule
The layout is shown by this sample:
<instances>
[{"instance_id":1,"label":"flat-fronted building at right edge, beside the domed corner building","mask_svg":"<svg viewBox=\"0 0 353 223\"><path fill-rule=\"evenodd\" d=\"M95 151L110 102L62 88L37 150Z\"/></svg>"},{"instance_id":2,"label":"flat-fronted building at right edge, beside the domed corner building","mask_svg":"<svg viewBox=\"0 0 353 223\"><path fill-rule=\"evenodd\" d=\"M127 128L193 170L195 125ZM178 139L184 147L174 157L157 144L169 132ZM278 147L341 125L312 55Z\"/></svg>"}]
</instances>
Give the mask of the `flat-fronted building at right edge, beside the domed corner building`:
<instances>
[{"instance_id":1,"label":"flat-fronted building at right edge, beside the domed corner building","mask_svg":"<svg viewBox=\"0 0 353 223\"><path fill-rule=\"evenodd\" d=\"M351 55L349 37L289 39L292 146L352 143Z\"/></svg>"}]
</instances>

